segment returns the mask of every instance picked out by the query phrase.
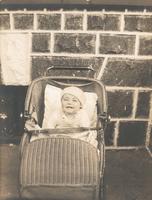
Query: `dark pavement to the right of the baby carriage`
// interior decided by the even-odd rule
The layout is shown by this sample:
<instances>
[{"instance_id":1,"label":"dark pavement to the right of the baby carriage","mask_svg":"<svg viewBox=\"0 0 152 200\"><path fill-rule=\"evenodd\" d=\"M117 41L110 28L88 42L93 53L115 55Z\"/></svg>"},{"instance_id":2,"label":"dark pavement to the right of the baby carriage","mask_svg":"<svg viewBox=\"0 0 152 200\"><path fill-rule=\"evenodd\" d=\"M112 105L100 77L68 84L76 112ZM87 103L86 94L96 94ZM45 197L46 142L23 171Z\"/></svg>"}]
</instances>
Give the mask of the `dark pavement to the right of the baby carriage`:
<instances>
[{"instance_id":1,"label":"dark pavement to the right of the baby carriage","mask_svg":"<svg viewBox=\"0 0 152 200\"><path fill-rule=\"evenodd\" d=\"M152 200L152 157L146 149L106 152L106 200Z\"/></svg>"}]
</instances>

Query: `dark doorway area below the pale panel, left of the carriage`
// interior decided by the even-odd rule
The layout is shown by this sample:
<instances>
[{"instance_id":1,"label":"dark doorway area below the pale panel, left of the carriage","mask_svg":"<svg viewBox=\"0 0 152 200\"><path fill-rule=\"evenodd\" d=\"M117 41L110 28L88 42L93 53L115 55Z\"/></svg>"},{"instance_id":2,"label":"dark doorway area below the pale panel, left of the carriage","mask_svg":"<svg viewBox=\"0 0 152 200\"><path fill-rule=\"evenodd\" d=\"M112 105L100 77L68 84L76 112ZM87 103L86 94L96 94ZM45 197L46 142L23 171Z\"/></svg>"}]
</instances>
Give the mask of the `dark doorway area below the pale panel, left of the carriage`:
<instances>
[{"instance_id":1,"label":"dark doorway area below the pale panel, left of the carriage","mask_svg":"<svg viewBox=\"0 0 152 200\"><path fill-rule=\"evenodd\" d=\"M24 127L26 86L0 86L0 143L19 143Z\"/></svg>"}]
</instances>

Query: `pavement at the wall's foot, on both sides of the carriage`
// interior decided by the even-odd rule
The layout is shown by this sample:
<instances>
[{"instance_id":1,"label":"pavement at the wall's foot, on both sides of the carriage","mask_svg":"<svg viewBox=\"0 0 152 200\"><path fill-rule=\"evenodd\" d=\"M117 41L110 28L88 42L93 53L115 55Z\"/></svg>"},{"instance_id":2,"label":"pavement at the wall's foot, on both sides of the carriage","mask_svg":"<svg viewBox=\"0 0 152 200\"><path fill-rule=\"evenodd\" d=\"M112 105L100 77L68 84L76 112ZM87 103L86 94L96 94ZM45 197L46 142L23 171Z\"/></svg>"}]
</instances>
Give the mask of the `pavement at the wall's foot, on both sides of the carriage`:
<instances>
[{"instance_id":1,"label":"pavement at the wall's foot, on both sides of the carriage","mask_svg":"<svg viewBox=\"0 0 152 200\"><path fill-rule=\"evenodd\" d=\"M0 200L17 200L18 146L0 145ZM146 149L106 150L105 200L152 200L152 158Z\"/></svg>"}]
</instances>

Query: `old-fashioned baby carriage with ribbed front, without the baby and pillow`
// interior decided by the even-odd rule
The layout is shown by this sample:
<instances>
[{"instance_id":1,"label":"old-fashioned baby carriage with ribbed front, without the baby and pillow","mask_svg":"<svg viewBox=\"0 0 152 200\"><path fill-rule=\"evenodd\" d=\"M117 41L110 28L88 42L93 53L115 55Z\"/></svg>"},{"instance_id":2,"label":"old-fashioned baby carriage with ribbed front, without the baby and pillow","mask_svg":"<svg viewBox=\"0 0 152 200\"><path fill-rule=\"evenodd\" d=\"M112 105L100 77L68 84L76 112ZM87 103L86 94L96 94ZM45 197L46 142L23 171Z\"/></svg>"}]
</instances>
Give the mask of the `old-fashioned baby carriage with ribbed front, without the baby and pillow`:
<instances>
[{"instance_id":1,"label":"old-fashioned baby carriage with ribbed front, without the baby and pillow","mask_svg":"<svg viewBox=\"0 0 152 200\"><path fill-rule=\"evenodd\" d=\"M45 76L34 80L27 92L25 117L29 119L34 112L40 127L45 112L45 89L50 85L60 89L72 85L97 94L97 123L92 129L97 131L98 145L95 148L81 139L64 137L68 132L87 131L87 128L25 131L20 144L20 196L37 200L103 199L105 88L100 81L86 77ZM62 135L31 142L31 135L39 133Z\"/></svg>"}]
</instances>

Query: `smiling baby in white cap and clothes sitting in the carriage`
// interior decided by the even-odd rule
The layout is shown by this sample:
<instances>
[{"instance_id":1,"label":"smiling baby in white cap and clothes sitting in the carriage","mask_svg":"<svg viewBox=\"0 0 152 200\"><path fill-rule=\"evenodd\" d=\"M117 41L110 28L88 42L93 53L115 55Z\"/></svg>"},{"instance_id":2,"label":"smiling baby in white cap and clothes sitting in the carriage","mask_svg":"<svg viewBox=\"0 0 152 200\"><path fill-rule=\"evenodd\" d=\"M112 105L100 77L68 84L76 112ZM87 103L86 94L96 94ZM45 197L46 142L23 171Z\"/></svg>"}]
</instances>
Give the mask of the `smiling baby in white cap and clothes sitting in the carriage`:
<instances>
[{"instance_id":1,"label":"smiling baby in white cap and clothes sitting in the carriage","mask_svg":"<svg viewBox=\"0 0 152 200\"><path fill-rule=\"evenodd\" d=\"M83 110L84 92L78 87L67 87L61 93L61 109L51 119L45 120L43 128L90 127L88 114Z\"/></svg>"}]
</instances>

